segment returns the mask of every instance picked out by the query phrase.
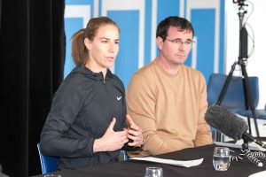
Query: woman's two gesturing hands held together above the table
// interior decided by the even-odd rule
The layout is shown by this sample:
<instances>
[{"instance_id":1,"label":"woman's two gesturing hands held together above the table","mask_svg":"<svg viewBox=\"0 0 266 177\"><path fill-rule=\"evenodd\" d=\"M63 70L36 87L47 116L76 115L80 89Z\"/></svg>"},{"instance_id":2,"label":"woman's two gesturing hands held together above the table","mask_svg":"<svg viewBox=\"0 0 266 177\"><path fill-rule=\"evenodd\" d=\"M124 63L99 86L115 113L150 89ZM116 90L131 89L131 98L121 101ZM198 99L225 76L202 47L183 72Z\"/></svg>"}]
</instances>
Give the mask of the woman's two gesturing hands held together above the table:
<instances>
[{"instance_id":1,"label":"woman's two gesturing hands held together above the table","mask_svg":"<svg viewBox=\"0 0 266 177\"><path fill-rule=\"evenodd\" d=\"M105 135L96 139L93 145L93 151L114 151L120 150L125 143L129 146L139 147L143 145L144 139L142 130L134 123L129 114L126 115L128 128L124 128L122 131L114 132L113 127L116 119L113 118L109 127L106 129ZM132 140L129 142L129 139Z\"/></svg>"}]
</instances>

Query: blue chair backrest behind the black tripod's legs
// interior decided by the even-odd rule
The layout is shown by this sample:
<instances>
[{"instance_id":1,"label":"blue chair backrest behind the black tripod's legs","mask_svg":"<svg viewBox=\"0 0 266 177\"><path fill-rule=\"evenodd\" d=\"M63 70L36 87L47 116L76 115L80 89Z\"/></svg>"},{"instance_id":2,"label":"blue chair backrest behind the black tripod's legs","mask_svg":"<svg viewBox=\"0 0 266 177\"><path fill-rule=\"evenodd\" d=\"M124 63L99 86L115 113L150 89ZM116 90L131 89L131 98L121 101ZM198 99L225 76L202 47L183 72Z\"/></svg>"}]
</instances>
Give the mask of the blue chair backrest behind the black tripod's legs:
<instances>
[{"instance_id":1,"label":"blue chair backrest behind the black tripod's legs","mask_svg":"<svg viewBox=\"0 0 266 177\"><path fill-rule=\"evenodd\" d=\"M227 75L221 73L211 74L207 83L207 102L209 105L216 104L218 97L223 89ZM243 78L232 76L228 89L223 97L221 106L231 110L246 109L246 99ZM254 101L254 108L259 102L259 81L258 77L248 77L251 95Z\"/></svg>"}]
</instances>

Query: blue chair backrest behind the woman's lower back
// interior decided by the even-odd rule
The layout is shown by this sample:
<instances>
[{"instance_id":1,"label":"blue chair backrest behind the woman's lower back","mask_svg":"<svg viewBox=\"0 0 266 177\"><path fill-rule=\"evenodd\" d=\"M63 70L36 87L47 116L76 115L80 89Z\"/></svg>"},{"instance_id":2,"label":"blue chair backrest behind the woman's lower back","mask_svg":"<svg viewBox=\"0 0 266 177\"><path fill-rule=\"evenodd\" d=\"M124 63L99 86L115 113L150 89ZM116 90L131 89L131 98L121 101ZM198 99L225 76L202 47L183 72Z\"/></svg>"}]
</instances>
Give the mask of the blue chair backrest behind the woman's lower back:
<instances>
[{"instance_id":1,"label":"blue chair backrest behind the woman's lower back","mask_svg":"<svg viewBox=\"0 0 266 177\"><path fill-rule=\"evenodd\" d=\"M58 163L59 163L59 158L58 157L51 157L51 156L44 156L41 147L40 147L40 142L37 143L37 148L39 152L39 157L42 165L42 173L50 173L57 171L58 169Z\"/></svg>"}]
</instances>

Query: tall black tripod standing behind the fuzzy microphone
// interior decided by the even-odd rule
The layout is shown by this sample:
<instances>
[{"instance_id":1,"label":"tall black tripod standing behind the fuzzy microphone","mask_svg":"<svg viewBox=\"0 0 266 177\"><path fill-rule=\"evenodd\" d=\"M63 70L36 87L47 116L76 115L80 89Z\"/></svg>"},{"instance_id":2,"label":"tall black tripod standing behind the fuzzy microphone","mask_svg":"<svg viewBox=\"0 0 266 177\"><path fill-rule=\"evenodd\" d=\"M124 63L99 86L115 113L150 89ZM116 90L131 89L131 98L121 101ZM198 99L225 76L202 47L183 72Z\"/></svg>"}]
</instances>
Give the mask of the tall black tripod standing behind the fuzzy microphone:
<instances>
[{"instance_id":1,"label":"tall black tripod standing behind the fuzzy microphone","mask_svg":"<svg viewBox=\"0 0 266 177\"><path fill-rule=\"evenodd\" d=\"M244 1L245 0L238 0L237 2L233 1L233 3L239 3L239 13L238 13L239 15L239 60L234 62L233 65L231 65L231 72L228 74L224 82L223 89L218 97L216 104L221 105L223 101L223 97L226 93L226 90L228 89L228 86L231 82L232 74L235 70L235 67L236 65L239 65L242 71L242 76L244 76L243 85L244 85L244 91L245 91L246 110L248 109L251 110L252 116L254 118L255 131L256 131L257 136L260 137L258 125L257 125L257 119L256 119L256 115L254 112L254 100L253 100L253 97L251 96L250 83L248 81L248 76L246 73L246 58L248 58L248 56L247 56L247 32L246 32L246 27L243 26L243 19L246 13L246 11L243 8L243 6L246 5L244 4ZM249 126L249 132L251 133L250 119L248 119L248 126ZM221 133L217 132L216 140L218 142L221 142Z\"/></svg>"}]
</instances>

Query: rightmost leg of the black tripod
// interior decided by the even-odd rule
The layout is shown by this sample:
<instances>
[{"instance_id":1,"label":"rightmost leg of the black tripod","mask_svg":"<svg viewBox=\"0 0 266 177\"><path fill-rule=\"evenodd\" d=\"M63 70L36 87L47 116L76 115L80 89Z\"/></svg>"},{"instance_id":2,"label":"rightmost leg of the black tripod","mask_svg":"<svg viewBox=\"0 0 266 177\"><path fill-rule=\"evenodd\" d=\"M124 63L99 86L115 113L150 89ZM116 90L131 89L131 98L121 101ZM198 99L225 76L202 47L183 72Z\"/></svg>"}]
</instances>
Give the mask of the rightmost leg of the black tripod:
<instances>
[{"instance_id":1,"label":"rightmost leg of the black tripod","mask_svg":"<svg viewBox=\"0 0 266 177\"><path fill-rule=\"evenodd\" d=\"M258 137L260 137L259 134L259 128L258 128L258 124L257 124L257 118L254 112L254 100L253 97L251 95L251 87L250 87L250 83L248 80L248 76L246 73L246 65L244 64L244 62L241 62L241 69L242 69L242 74L244 75L244 87L245 87L245 97L246 97L246 108L250 108L251 112L252 112L252 116L254 119L254 127L256 130L256 134ZM249 127L251 129L251 127Z\"/></svg>"}]
</instances>

